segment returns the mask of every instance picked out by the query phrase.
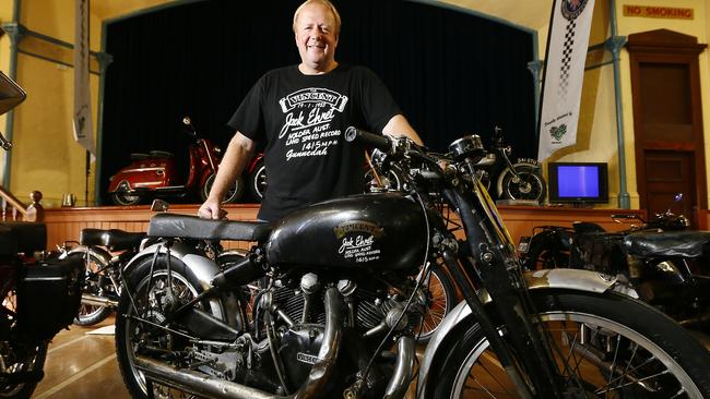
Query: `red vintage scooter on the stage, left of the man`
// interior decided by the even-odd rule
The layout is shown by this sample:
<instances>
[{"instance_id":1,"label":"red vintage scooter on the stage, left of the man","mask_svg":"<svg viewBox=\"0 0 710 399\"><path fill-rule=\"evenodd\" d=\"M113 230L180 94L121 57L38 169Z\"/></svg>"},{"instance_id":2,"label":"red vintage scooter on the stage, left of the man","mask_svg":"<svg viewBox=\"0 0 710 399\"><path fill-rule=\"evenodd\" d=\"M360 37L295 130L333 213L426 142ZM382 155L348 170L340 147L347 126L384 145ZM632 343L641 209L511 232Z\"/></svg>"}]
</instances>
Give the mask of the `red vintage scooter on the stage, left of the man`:
<instances>
[{"instance_id":1,"label":"red vintage scooter on the stage, left of the man","mask_svg":"<svg viewBox=\"0 0 710 399\"><path fill-rule=\"evenodd\" d=\"M178 181L175 156L167 152L131 154L131 164L110 177L108 193L116 205L137 205L155 197L185 197L199 192L206 200L220 166L221 149L208 138L198 136L189 117L182 119L187 133L194 138L190 144L190 172L186 182ZM238 177L224 202L237 202L244 194L242 178Z\"/></svg>"}]
</instances>

